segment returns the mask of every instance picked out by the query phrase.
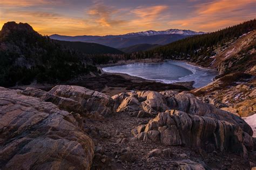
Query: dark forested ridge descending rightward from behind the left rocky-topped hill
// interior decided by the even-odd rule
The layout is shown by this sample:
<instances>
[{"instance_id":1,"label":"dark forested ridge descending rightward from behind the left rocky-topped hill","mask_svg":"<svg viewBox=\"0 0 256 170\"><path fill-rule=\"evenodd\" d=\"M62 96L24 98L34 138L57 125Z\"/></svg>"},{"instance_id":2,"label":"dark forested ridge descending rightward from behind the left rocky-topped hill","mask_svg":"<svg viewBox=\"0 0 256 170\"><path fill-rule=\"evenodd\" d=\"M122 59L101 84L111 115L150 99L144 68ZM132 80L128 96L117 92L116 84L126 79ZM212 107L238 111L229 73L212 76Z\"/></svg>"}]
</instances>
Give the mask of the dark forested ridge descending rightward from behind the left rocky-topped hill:
<instances>
[{"instance_id":1,"label":"dark forested ridge descending rightward from behind the left rocky-topped hill","mask_svg":"<svg viewBox=\"0 0 256 170\"><path fill-rule=\"evenodd\" d=\"M59 41L56 40L59 44L64 45L66 47L76 49L84 54L123 54L122 51L96 44L96 43L89 43L89 42L79 42L79 41Z\"/></svg>"}]
</instances>

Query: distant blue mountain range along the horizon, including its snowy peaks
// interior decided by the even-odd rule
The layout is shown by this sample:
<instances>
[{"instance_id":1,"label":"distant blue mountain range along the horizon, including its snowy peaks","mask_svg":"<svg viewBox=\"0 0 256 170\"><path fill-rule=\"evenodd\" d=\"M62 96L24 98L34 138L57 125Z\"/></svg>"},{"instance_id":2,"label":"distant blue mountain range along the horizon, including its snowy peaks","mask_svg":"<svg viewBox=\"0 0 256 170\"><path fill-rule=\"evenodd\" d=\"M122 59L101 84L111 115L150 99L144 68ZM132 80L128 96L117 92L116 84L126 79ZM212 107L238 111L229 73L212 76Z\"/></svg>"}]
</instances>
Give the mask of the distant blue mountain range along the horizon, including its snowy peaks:
<instances>
[{"instance_id":1,"label":"distant blue mountain range along the horizon, including its snowy peaks","mask_svg":"<svg viewBox=\"0 0 256 170\"><path fill-rule=\"evenodd\" d=\"M127 33L123 35L107 35L107 36L60 36L53 34L50 36L51 39L62 40L62 41L82 41L82 42L93 42L110 46L113 48L125 48L138 44L158 44L165 45L170 42L177 41L186 37L204 34L204 32L196 32L191 30L178 30L169 29L166 31L144 31Z\"/></svg>"}]
</instances>

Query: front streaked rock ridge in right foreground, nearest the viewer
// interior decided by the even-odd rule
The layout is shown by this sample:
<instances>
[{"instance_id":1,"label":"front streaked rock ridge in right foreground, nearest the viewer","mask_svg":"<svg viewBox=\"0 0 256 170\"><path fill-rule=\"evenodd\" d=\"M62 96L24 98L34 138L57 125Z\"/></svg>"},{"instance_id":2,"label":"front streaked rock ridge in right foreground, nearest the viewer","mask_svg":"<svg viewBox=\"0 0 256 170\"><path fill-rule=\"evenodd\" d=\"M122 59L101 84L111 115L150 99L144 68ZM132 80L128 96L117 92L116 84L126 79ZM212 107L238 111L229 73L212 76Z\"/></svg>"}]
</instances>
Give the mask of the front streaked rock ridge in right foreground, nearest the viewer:
<instances>
[{"instance_id":1,"label":"front streaked rock ridge in right foreground, nearest the viewer","mask_svg":"<svg viewBox=\"0 0 256 170\"><path fill-rule=\"evenodd\" d=\"M230 151L244 157L247 150L253 150L253 138L239 125L177 110L160 112L148 124L138 126L137 131L139 140L164 145Z\"/></svg>"}]
</instances>

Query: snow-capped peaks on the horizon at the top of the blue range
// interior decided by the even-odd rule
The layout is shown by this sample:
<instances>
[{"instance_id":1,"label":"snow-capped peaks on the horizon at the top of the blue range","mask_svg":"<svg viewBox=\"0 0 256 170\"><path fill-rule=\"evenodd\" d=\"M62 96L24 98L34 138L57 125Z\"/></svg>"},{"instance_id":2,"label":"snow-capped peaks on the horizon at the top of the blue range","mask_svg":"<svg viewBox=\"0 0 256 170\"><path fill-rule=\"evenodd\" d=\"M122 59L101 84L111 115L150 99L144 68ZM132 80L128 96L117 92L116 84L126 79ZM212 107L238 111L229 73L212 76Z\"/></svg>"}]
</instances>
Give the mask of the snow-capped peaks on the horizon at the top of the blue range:
<instances>
[{"instance_id":1,"label":"snow-capped peaks on the horizon at the top of the blue range","mask_svg":"<svg viewBox=\"0 0 256 170\"><path fill-rule=\"evenodd\" d=\"M184 36L193 36L198 34L204 34L205 32L196 32L191 30L179 30L179 29L169 29L165 31L142 31L142 32L132 32L127 33L125 35L140 35L140 36L156 36L156 35L164 35L164 34L180 34Z\"/></svg>"}]
</instances>

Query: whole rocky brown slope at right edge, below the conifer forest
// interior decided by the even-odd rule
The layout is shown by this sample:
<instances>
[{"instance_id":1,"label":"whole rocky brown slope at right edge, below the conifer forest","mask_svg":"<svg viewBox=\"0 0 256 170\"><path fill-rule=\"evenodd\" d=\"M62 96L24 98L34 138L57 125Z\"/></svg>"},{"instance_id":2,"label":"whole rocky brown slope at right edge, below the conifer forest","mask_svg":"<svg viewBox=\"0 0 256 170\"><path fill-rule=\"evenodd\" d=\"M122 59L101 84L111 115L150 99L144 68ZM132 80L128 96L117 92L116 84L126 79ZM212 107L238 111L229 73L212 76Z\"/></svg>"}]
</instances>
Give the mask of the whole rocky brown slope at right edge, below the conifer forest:
<instances>
[{"instance_id":1,"label":"whole rocky brown slope at right edge, below the conifer forest","mask_svg":"<svg viewBox=\"0 0 256 170\"><path fill-rule=\"evenodd\" d=\"M256 114L256 30L215 50L211 67L217 67L219 79L193 90L194 95L241 117Z\"/></svg>"}]
</instances>

